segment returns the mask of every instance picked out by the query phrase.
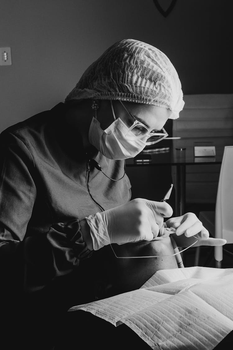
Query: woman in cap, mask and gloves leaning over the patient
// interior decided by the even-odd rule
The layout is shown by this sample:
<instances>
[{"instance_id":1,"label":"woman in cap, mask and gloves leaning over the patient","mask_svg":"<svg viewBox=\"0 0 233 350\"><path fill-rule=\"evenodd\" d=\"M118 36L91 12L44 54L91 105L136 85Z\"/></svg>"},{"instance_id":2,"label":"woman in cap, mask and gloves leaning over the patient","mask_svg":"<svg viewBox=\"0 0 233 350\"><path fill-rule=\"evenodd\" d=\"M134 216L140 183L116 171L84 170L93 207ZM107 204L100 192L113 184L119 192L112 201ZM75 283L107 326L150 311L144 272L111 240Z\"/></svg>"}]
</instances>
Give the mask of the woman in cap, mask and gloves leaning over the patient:
<instances>
[{"instance_id":1,"label":"woman in cap, mask and gloves leaning over the patient","mask_svg":"<svg viewBox=\"0 0 233 350\"><path fill-rule=\"evenodd\" d=\"M55 318L72 306L72 290L61 290L72 278L80 279L80 295L85 289L82 262L110 243L159 236L173 210L160 198L130 201L124 160L164 138L167 119L178 118L183 106L167 56L127 39L87 68L64 103L1 133L1 323L17 334L6 336L7 344L51 348ZM208 238L192 213L167 226L177 228L177 237L198 234L199 244L225 243Z\"/></svg>"}]
</instances>

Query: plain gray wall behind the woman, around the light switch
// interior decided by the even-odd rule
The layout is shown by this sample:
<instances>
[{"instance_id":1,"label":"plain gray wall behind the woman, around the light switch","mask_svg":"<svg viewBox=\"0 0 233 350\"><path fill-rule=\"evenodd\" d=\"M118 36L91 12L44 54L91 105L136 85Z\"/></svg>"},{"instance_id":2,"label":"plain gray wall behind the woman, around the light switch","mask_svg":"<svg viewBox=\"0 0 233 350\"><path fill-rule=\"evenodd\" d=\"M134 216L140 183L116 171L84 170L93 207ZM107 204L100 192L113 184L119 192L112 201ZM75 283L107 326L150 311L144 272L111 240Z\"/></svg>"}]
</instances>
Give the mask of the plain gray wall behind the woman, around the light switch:
<instances>
[{"instance_id":1,"label":"plain gray wall behind the woman, around the light switch","mask_svg":"<svg viewBox=\"0 0 233 350\"><path fill-rule=\"evenodd\" d=\"M63 101L123 38L165 52L185 94L232 92L231 23L229 0L177 0L167 18L152 0L1 0L0 47L11 47L12 66L0 66L0 131Z\"/></svg>"}]
</instances>

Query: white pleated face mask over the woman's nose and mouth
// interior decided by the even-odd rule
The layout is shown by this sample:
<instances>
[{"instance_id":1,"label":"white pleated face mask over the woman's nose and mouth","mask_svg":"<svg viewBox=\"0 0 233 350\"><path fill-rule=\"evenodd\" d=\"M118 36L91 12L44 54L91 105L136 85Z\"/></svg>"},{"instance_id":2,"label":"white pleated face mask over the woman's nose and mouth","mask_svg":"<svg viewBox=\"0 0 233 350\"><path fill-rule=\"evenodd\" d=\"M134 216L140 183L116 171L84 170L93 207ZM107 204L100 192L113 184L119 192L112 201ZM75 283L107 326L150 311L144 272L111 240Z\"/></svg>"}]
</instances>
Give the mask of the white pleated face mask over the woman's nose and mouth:
<instances>
[{"instance_id":1,"label":"white pleated face mask over the woman's nose and mouth","mask_svg":"<svg viewBox=\"0 0 233 350\"><path fill-rule=\"evenodd\" d=\"M90 144L109 159L123 160L135 157L146 146L146 138L144 140L127 139L125 134L129 130L128 126L120 118L116 119L113 108L112 114L115 121L105 130L101 129L99 120L92 118L89 128Z\"/></svg>"}]
</instances>

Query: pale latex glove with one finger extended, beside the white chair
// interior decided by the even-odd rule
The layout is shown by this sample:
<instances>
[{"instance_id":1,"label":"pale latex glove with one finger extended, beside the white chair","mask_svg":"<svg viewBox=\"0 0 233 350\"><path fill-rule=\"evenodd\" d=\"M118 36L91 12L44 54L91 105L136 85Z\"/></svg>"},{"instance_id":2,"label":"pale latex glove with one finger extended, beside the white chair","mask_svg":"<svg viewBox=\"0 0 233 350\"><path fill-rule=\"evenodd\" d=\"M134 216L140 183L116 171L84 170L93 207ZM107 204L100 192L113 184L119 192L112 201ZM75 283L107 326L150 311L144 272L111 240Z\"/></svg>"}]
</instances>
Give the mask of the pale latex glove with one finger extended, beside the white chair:
<instances>
[{"instance_id":1,"label":"pale latex glove with one finger extended, beside the white chair","mask_svg":"<svg viewBox=\"0 0 233 350\"><path fill-rule=\"evenodd\" d=\"M195 238L192 238L194 235L197 235L199 238L195 246L220 246L226 244L225 239L209 237L209 231L204 228L202 222L194 213L189 212L178 217L170 218L166 221L166 225L168 228L173 227L176 229L173 238L177 246L180 247L190 246L192 240L195 241Z\"/></svg>"}]
</instances>

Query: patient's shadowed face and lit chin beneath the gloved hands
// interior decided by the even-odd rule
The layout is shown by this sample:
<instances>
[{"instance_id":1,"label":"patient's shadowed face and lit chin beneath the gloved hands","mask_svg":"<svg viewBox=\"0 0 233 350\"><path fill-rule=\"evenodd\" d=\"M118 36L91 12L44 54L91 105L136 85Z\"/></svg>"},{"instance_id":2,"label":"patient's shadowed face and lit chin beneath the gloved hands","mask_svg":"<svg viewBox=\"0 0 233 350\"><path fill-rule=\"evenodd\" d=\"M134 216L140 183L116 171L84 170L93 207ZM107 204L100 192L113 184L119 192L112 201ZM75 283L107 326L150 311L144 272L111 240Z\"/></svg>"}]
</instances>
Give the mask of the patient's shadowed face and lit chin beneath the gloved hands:
<instances>
[{"instance_id":1,"label":"patient's shadowed face and lit chin beneath the gloved hands","mask_svg":"<svg viewBox=\"0 0 233 350\"><path fill-rule=\"evenodd\" d=\"M95 251L95 254L89 260L92 263L87 275L88 279L93 276L93 280L96 280L97 289L100 293L99 299L138 289L156 271L178 267L175 256L172 256L174 248L169 236L156 241L141 241L122 245L112 244L112 248L117 256L166 255L166 257L117 259L110 245ZM106 261L108 261L108 264L106 264Z\"/></svg>"}]
</instances>

